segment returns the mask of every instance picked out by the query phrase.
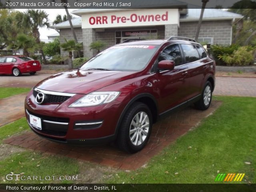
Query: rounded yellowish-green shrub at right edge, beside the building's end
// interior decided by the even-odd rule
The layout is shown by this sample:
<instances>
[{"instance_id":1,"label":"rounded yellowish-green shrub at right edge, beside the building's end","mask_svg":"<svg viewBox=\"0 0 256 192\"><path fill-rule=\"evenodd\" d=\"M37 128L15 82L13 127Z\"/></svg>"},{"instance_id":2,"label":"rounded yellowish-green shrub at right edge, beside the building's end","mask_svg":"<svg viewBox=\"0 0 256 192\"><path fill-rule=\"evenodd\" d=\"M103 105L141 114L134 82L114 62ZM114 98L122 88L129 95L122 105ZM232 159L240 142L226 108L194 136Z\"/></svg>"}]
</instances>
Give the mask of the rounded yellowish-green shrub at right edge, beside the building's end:
<instances>
[{"instance_id":1,"label":"rounded yellowish-green shrub at right edge, beside the building's end","mask_svg":"<svg viewBox=\"0 0 256 192\"><path fill-rule=\"evenodd\" d=\"M232 54L218 56L228 66L246 66L254 61L253 50L251 46L242 46L234 50Z\"/></svg>"}]
</instances>

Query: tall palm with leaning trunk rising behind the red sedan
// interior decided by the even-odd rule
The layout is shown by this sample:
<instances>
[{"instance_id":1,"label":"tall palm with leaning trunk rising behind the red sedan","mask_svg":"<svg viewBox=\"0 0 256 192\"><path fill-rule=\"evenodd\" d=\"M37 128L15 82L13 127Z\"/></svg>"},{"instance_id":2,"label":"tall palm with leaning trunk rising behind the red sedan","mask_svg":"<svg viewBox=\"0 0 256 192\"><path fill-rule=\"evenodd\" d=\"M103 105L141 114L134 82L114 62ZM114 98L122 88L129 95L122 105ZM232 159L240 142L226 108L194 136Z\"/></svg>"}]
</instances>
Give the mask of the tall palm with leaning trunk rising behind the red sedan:
<instances>
[{"instance_id":1,"label":"tall palm with leaning trunk rising behind the red sedan","mask_svg":"<svg viewBox=\"0 0 256 192\"><path fill-rule=\"evenodd\" d=\"M49 28L49 20L48 14L43 10L34 10L28 9L25 12L24 24L32 29L32 34L36 39L36 43L40 44L40 32L39 28L47 27ZM42 48L40 48L40 52L42 54L44 64L47 64L47 60L44 56L44 52Z\"/></svg>"}]
</instances>

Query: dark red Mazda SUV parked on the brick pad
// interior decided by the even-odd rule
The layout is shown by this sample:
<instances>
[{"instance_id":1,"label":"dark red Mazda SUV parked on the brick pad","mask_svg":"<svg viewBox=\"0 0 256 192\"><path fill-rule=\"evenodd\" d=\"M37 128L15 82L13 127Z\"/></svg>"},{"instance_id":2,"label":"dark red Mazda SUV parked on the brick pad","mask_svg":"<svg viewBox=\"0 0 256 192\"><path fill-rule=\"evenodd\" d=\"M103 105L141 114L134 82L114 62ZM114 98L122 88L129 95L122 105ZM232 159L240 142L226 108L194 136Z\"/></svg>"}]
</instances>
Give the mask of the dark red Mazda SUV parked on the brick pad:
<instances>
[{"instance_id":1,"label":"dark red Mazda SUV parked on the brick pad","mask_svg":"<svg viewBox=\"0 0 256 192\"><path fill-rule=\"evenodd\" d=\"M159 115L192 103L210 106L214 74L214 60L192 39L117 44L39 82L26 97L26 118L50 140L116 140L122 150L137 152Z\"/></svg>"}]
</instances>

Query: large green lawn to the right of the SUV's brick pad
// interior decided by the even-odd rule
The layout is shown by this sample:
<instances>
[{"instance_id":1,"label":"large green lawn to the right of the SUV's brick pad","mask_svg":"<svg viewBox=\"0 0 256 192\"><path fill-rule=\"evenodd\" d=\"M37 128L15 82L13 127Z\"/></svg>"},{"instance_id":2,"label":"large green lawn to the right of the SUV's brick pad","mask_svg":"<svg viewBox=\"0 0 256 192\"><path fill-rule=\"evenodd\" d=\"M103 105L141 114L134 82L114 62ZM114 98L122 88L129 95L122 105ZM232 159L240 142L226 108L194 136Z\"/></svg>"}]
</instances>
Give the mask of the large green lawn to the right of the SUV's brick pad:
<instances>
[{"instance_id":1,"label":"large green lawn to the right of the SUV's brick pad","mask_svg":"<svg viewBox=\"0 0 256 192\"><path fill-rule=\"evenodd\" d=\"M222 106L152 158L146 168L122 171L108 182L223 183L214 182L219 172L245 173L243 182L256 183L256 98L214 100L222 100Z\"/></svg>"}]
</instances>

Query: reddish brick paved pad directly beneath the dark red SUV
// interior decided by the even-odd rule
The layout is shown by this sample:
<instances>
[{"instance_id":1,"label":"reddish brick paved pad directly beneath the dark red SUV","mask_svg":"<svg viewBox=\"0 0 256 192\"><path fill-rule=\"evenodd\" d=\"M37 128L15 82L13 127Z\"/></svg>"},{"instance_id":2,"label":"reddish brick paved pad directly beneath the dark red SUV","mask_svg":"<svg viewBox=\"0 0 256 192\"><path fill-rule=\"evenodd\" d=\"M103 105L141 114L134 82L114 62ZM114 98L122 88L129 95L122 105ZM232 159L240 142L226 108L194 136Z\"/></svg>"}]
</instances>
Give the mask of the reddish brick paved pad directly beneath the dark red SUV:
<instances>
[{"instance_id":1,"label":"reddish brick paved pad directly beneath the dark red SUV","mask_svg":"<svg viewBox=\"0 0 256 192\"><path fill-rule=\"evenodd\" d=\"M171 116L166 115L162 117L154 124L150 140L146 147L136 154L124 153L114 145L85 147L58 144L40 138L32 131L8 138L4 142L54 155L62 155L115 168L133 170L143 166L165 146L168 146L171 142L174 142L192 127L196 126L203 118L214 112L220 104L221 102L213 101L212 106L206 111L195 110L189 107Z\"/></svg>"}]
</instances>

